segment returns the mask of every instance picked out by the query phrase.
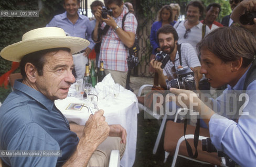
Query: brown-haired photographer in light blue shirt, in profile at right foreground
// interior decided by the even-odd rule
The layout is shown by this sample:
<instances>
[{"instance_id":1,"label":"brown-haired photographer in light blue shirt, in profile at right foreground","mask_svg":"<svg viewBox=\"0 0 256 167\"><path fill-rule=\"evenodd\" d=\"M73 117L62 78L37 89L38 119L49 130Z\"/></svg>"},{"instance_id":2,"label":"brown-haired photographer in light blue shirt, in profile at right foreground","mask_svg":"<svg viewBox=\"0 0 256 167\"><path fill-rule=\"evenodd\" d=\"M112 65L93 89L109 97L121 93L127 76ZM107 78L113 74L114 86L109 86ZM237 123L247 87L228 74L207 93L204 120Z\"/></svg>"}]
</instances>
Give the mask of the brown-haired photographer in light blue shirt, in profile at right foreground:
<instances>
[{"instance_id":1,"label":"brown-haired photographer in light blue shirt, in profile at right foreground","mask_svg":"<svg viewBox=\"0 0 256 167\"><path fill-rule=\"evenodd\" d=\"M201 53L200 73L205 74L211 87L227 84L228 88L211 102L201 101L195 92L189 90L170 88L170 92L176 97L187 97L182 102L176 101L177 104L194 105L192 110L198 111L209 127L211 142L218 151L223 151L241 166L254 166L256 39L240 27L221 27L199 42L197 49ZM234 99L228 99L228 96ZM239 103L241 96L245 98L242 105ZM237 117L233 117L234 114ZM233 120L229 119L231 117Z\"/></svg>"}]
</instances>

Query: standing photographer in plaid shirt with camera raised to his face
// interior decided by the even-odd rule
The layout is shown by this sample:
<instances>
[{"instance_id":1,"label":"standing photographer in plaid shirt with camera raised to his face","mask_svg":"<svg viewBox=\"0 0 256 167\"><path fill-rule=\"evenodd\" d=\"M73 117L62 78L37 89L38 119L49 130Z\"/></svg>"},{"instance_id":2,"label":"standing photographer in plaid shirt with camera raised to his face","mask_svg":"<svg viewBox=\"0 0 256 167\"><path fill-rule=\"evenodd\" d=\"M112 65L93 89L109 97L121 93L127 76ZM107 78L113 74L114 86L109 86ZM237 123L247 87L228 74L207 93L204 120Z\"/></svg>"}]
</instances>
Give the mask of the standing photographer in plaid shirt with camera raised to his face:
<instances>
[{"instance_id":1,"label":"standing photographer in plaid shirt with camera raised to his face","mask_svg":"<svg viewBox=\"0 0 256 167\"><path fill-rule=\"evenodd\" d=\"M122 0L107 0L105 5L108 9L99 7L95 13L96 25L92 38L96 43L101 42L99 62L104 61L105 73L111 73L115 83L125 88L128 71L126 58L129 54L126 47L130 48L134 44L137 20L129 13ZM126 15L122 28L126 13L129 14Z\"/></svg>"}]
</instances>

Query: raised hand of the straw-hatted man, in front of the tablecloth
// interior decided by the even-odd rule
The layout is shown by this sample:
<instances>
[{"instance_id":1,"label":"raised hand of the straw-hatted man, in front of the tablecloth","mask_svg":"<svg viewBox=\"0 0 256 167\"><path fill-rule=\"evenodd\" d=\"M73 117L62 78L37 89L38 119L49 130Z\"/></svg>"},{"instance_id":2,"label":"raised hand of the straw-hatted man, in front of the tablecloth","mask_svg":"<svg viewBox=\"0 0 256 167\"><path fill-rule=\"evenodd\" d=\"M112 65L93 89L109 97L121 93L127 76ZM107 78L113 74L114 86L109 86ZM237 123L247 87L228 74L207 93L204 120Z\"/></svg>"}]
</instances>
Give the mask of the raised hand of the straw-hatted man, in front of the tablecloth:
<instances>
[{"instance_id":1,"label":"raised hand of the straw-hatted man, in front of the tablecloth","mask_svg":"<svg viewBox=\"0 0 256 167\"><path fill-rule=\"evenodd\" d=\"M98 147L101 142L109 136L110 127L108 123L105 122L105 117L103 114L104 111L99 110L95 112L94 115L91 114L86 122L82 137L84 137L87 144L96 144Z\"/></svg>"}]
</instances>

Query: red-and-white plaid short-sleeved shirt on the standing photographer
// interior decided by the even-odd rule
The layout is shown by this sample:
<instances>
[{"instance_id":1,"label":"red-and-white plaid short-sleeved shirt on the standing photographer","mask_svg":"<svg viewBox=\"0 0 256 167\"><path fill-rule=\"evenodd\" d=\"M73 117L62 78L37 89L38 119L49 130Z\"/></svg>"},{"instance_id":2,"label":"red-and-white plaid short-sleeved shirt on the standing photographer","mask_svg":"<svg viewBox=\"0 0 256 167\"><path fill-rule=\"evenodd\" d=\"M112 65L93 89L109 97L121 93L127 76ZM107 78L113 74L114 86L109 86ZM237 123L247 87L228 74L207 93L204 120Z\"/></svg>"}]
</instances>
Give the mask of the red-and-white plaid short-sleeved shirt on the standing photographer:
<instances>
[{"instance_id":1,"label":"red-and-white plaid short-sleeved shirt on the standing photographer","mask_svg":"<svg viewBox=\"0 0 256 167\"><path fill-rule=\"evenodd\" d=\"M124 5L122 14L114 18L116 24L122 28L122 19L126 13L128 13L127 7ZM103 22L101 28L105 27L106 23ZM133 14L127 14L124 21L124 31L132 32L136 34L137 20ZM102 36L100 59L98 67L100 67L100 61L104 62L104 68L117 71L127 71L127 56L129 52L126 49L123 42L118 37L118 34L112 27L109 28L108 32Z\"/></svg>"}]
</instances>

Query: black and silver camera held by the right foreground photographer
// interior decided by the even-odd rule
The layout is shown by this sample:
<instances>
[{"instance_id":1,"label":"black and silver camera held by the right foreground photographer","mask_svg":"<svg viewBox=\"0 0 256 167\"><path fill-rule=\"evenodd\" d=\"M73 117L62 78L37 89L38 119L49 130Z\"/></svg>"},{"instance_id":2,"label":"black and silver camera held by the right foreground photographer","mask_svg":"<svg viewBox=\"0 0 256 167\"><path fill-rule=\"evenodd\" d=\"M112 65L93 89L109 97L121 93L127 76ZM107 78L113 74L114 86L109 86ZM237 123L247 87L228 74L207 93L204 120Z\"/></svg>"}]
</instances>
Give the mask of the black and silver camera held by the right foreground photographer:
<instances>
[{"instance_id":1,"label":"black and silver camera held by the right foreground photographer","mask_svg":"<svg viewBox=\"0 0 256 167\"><path fill-rule=\"evenodd\" d=\"M167 90L170 88L196 90L194 73L189 67L183 67L176 70L177 79L165 80Z\"/></svg>"}]
</instances>

